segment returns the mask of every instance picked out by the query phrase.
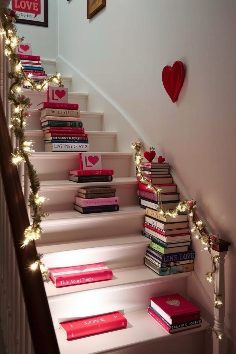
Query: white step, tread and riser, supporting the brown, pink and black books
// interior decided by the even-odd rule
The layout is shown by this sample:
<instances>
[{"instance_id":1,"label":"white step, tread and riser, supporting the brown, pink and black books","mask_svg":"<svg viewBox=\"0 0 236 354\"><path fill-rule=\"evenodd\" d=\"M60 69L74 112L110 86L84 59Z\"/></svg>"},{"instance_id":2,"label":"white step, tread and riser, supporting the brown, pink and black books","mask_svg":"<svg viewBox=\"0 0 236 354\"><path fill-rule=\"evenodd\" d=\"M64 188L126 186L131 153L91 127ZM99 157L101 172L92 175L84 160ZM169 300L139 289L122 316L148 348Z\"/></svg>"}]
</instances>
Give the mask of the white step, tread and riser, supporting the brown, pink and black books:
<instances>
[{"instance_id":1,"label":"white step, tread and riser, supporting the brown, pink and black books","mask_svg":"<svg viewBox=\"0 0 236 354\"><path fill-rule=\"evenodd\" d=\"M144 215L145 209L138 205L121 206L115 212L86 215L75 210L50 212L41 222L44 233L36 245L141 233Z\"/></svg>"}]
</instances>

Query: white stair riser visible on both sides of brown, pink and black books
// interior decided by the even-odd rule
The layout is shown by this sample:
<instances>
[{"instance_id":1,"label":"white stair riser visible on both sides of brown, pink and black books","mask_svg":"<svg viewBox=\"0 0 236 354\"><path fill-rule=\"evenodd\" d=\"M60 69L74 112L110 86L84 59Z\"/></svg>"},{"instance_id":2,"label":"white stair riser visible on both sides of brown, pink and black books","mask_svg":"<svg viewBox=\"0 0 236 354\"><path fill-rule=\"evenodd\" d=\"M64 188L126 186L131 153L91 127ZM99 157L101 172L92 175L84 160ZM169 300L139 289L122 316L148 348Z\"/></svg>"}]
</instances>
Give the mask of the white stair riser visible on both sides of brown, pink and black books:
<instances>
[{"instance_id":1,"label":"white stair riser visible on both sides of brown, pink and black books","mask_svg":"<svg viewBox=\"0 0 236 354\"><path fill-rule=\"evenodd\" d=\"M73 188L64 189L40 189L40 195L43 195L49 200L44 203L45 212L59 210L73 210L74 196L77 195L79 183L73 183ZM116 187L116 196L119 197L119 206L136 205L138 204L137 186L126 185L124 187Z\"/></svg>"}]
</instances>

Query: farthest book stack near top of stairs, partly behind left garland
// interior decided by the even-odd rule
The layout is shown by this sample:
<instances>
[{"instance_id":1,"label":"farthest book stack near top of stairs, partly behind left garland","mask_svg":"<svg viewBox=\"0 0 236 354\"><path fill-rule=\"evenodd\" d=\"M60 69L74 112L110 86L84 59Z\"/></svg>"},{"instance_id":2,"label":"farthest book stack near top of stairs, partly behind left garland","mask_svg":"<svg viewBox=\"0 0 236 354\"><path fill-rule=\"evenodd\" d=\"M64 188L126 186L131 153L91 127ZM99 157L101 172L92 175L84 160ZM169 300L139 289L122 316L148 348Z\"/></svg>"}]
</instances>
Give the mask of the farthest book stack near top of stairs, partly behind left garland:
<instances>
[{"instance_id":1,"label":"farthest book stack near top of stairs, partly behind left garland","mask_svg":"<svg viewBox=\"0 0 236 354\"><path fill-rule=\"evenodd\" d=\"M26 76L31 75L34 81L46 80L47 74L41 65L41 59L38 55L18 54L21 59L21 65Z\"/></svg>"}]
</instances>

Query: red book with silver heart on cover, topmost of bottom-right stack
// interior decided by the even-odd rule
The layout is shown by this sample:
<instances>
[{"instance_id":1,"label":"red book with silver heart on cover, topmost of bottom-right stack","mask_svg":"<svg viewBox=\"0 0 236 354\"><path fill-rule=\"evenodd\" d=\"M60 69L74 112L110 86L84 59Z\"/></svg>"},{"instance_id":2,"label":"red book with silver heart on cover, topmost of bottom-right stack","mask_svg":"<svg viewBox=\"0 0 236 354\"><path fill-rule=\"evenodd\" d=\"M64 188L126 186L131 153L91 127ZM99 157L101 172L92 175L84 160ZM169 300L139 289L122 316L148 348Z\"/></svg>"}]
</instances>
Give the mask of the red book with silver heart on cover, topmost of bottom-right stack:
<instances>
[{"instance_id":1,"label":"red book with silver heart on cover, topmost of bottom-right stack","mask_svg":"<svg viewBox=\"0 0 236 354\"><path fill-rule=\"evenodd\" d=\"M178 293L150 300L151 307L170 325L200 319L201 310Z\"/></svg>"}]
</instances>

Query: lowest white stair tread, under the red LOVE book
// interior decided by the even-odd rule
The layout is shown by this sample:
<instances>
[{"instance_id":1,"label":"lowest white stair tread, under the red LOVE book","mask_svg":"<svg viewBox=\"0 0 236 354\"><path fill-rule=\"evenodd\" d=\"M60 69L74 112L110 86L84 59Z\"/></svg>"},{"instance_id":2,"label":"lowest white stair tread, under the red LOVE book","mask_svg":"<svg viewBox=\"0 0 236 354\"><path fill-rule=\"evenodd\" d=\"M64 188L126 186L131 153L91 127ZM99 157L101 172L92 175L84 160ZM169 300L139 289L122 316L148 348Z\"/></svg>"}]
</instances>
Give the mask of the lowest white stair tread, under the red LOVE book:
<instances>
[{"instance_id":1,"label":"lowest white stair tread, under the red LOVE book","mask_svg":"<svg viewBox=\"0 0 236 354\"><path fill-rule=\"evenodd\" d=\"M209 324L202 320L201 327L191 329L188 331L169 333L159 325L147 312L147 310L135 311L125 314L128 326L124 329L99 333L67 341L63 336L61 330L57 329L56 336L61 354L77 354L78 346L80 354L98 354L121 349L131 345L138 346L147 341L157 342L163 340L165 337L170 340L171 338L184 336L188 333L194 333L206 330ZM157 349L158 352L158 349Z\"/></svg>"}]
</instances>

